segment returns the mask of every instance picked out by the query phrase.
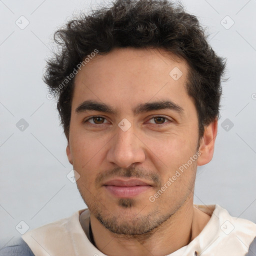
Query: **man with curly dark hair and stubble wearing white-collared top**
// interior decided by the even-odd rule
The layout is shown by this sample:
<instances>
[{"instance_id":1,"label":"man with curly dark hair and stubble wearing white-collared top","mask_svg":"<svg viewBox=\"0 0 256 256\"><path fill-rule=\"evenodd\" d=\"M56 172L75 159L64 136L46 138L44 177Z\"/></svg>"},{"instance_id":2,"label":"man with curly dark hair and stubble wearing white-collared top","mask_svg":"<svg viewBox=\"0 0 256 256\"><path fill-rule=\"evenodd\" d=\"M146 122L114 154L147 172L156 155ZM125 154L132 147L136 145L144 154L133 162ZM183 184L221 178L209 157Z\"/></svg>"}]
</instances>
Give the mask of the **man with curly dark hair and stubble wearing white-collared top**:
<instances>
[{"instance_id":1,"label":"man with curly dark hair and stubble wearing white-collared top","mask_svg":"<svg viewBox=\"0 0 256 256\"><path fill-rule=\"evenodd\" d=\"M256 255L256 224L193 204L225 66L196 17L167 0L117 0L55 40L44 80L88 208L0 255Z\"/></svg>"}]
</instances>

